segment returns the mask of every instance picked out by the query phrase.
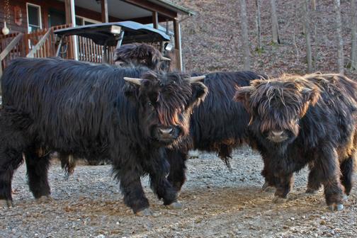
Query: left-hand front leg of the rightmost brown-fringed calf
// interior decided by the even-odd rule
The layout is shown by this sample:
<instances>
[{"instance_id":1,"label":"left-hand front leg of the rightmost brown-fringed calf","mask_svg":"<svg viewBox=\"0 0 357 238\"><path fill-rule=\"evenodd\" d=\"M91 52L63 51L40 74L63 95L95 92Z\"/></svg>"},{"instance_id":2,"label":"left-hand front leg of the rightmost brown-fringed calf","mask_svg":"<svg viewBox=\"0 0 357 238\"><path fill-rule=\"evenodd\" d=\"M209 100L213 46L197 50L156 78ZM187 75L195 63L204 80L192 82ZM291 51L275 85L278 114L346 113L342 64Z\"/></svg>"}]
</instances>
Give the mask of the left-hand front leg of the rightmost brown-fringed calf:
<instances>
[{"instance_id":1,"label":"left-hand front leg of the rightmost brown-fringed calf","mask_svg":"<svg viewBox=\"0 0 357 238\"><path fill-rule=\"evenodd\" d=\"M273 182L275 183L276 187L276 193L273 202L283 202L287 198L288 193L290 192L291 187L293 186L293 173L280 174L279 176L276 176L274 178Z\"/></svg>"}]
</instances>

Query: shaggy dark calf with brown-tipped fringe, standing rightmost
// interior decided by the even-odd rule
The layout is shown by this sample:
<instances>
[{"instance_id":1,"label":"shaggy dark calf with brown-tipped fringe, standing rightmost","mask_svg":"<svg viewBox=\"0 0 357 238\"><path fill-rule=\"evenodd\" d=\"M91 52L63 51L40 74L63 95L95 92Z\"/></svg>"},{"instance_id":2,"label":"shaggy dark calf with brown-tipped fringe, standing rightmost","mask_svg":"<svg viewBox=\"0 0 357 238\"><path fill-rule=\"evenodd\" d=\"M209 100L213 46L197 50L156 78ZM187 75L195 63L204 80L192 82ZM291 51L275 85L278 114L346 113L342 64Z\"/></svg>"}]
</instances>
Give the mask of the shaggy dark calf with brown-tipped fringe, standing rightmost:
<instances>
[{"instance_id":1,"label":"shaggy dark calf with brown-tipped fringe, standing rightmost","mask_svg":"<svg viewBox=\"0 0 357 238\"><path fill-rule=\"evenodd\" d=\"M356 155L356 92L357 84L339 74L283 75L237 90L275 201L286 198L293 173L308 164L307 192L322 184L327 205L343 209Z\"/></svg>"}]
</instances>

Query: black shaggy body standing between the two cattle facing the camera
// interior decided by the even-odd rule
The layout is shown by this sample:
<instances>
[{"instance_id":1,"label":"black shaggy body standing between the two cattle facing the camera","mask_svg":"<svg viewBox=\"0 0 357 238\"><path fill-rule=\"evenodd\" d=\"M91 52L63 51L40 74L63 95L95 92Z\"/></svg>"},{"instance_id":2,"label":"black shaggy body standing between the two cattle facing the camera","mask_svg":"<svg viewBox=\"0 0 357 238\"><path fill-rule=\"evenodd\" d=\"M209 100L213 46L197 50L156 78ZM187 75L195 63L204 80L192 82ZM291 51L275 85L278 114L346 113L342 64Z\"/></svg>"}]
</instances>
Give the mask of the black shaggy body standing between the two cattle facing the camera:
<instances>
[{"instance_id":1,"label":"black shaggy body standing between the two cattle facing the camera","mask_svg":"<svg viewBox=\"0 0 357 238\"><path fill-rule=\"evenodd\" d=\"M248 86L262 76L254 72L215 72L206 74L208 96L191 116L190 139L179 149L166 149L170 163L169 181L177 191L186 180L185 162L189 149L217 152L229 166L232 149L251 143L247 133L249 114L242 103L232 101L235 86Z\"/></svg>"}]
</instances>

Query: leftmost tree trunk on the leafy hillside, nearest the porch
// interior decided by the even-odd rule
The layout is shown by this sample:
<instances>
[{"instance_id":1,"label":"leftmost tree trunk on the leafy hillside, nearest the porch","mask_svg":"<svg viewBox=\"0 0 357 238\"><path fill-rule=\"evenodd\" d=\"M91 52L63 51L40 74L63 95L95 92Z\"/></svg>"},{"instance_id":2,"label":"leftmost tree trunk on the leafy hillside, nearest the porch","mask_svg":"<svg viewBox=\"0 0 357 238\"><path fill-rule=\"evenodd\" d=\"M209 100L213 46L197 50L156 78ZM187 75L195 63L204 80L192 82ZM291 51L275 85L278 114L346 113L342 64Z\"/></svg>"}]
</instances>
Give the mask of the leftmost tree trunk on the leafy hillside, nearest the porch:
<instances>
[{"instance_id":1,"label":"leftmost tree trunk on the leafy hillside, nearest the porch","mask_svg":"<svg viewBox=\"0 0 357 238\"><path fill-rule=\"evenodd\" d=\"M246 16L246 0L240 0L241 8L241 26L242 26L242 40L244 50L244 70L250 69L250 56L249 56L249 38L248 38L248 23Z\"/></svg>"}]
</instances>

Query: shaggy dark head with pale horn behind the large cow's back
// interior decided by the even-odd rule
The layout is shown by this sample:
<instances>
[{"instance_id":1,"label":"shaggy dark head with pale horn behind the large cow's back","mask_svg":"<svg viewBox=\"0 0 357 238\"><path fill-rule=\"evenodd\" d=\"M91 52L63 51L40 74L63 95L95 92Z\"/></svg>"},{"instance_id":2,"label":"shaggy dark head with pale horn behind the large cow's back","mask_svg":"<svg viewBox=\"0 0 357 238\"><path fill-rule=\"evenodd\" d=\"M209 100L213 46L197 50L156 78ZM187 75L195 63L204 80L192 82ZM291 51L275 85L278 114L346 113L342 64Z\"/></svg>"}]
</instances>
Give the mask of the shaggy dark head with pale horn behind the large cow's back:
<instances>
[{"instance_id":1,"label":"shaggy dark head with pale horn behind the large cow's back","mask_svg":"<svg viewBox=\"0 0 357 238\"><path fill-rule=\"evenodd\" d=\"M164 62L170 59L163 57L152 45L132 43L121 45L115 50L114 62L120 67L144 66L153 70L162 69Z\"/></svg>"}]
</instances>

